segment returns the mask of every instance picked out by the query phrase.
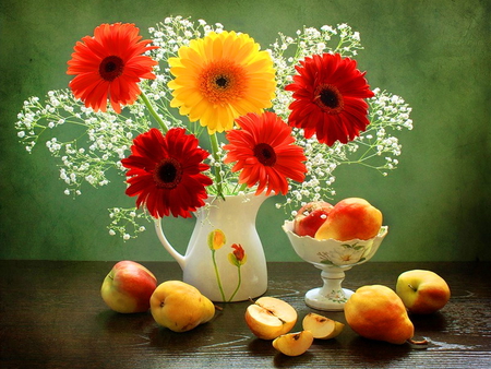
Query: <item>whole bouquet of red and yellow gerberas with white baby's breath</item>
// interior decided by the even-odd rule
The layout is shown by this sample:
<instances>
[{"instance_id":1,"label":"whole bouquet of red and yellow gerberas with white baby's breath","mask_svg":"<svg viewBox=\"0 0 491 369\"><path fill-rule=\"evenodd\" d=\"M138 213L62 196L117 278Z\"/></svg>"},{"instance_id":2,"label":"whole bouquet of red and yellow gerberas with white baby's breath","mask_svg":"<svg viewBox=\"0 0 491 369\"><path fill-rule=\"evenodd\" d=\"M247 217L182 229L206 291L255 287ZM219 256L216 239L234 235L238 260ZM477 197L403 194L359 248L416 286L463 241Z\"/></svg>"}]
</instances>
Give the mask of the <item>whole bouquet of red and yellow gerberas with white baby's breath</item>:
<instances>
[{"instance_id":1,"label":"whole bouquet of red and yellow gerberas with white baby's breath","mask_svg":"<svg viewBox=\"0 0 491 369\"><path fill-rule=\"evenodd\" d=\"M109 210L111 235L129 239L144 219L190 217L208 195L248 191L280 194L276 206L295 215L335 194L343 164L396 168L393 134L412 128L411 109L370 88L348 25L279 33L264 50L203 20L167 17L148 32L97 26L74 47L70 88L28 98L15 123L29 153L60 131L46 146L68 195L109 184L112 170L127 178L136 203Z\"/></svg>"}]
</instances>

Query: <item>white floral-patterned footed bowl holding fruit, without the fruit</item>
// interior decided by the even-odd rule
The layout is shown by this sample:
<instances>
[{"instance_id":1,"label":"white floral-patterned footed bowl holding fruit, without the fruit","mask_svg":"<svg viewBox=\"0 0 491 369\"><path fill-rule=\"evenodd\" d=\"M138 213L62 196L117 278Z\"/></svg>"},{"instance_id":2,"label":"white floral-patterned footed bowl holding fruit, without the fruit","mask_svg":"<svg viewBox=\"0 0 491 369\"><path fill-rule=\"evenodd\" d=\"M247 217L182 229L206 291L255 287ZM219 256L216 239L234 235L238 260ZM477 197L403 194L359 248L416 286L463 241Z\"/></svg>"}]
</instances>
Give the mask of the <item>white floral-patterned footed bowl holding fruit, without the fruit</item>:
<instances>
[{"instance_id":1,"label":"white floral-patterned footed bowl holding fruit, without the fruit","mask_svg":"<svg viewBox=\"0 0 491 369\"><path fill-rule=\"evenodd\" d=\"M352 290L342 287L345 272L369 261L388 231L388 227L383 226L374 238L338 241L332 238L319 240L310 236L298 236L294 233L292 221L286 221L282 228L295 252L322 270L324 285L309 290L306 294L306 303L313 309L326 311L344 310L345 302L354 294Z\"/></svg>"}]
</instances>

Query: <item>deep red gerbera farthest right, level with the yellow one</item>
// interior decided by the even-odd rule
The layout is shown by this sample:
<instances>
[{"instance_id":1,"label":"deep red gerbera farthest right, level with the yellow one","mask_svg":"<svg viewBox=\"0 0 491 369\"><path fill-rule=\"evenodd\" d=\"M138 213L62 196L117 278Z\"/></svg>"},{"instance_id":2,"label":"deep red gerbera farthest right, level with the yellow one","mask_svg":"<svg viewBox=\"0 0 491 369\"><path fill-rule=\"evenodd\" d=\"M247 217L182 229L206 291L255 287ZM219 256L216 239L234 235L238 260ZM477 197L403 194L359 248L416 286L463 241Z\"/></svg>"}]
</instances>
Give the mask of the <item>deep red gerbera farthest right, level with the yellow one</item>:
<instances>
[{"instance_id":1,"label":"deep red gerbera farthest right, level with the yellow one","mask_svg":"<svg viewBox=\"0 0 491 369\"><path fill-rule=\"evenodd\" d=\"M368 104L373 92L357 69L356 60L339 53L314 55L296 67L298 75L285 90L294 92L288 123L302 128L307 139L316 134L319 142L333 145L352 141L364 131Z\"/></svg>"}]
</instances>

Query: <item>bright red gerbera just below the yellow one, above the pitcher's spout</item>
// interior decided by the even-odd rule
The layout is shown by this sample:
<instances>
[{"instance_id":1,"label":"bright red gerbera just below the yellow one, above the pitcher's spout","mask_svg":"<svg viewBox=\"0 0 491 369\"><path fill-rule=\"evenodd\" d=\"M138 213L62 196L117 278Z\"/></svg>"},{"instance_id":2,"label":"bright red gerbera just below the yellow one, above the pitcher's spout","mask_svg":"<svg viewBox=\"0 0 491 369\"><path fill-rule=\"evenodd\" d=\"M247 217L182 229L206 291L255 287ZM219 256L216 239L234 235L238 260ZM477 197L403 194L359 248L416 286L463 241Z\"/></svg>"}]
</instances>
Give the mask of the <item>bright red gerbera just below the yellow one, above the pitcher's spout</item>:
<instances>
[{"instance_id":1,"label":"bright red gerbera just below the yellow one, above the pitcher's spout","mask_svg":"<svg viewBox=\"0 0 491 369\"><path fill-rule=\"evenodd\" d=\"M303 181L306 156L303 150L294 144L291 128L276 114L248 114L236 119L240 130L227 132L229 144L225 163L233 163L232 171L242 170L239 182L248 187L258 186L256 194L266 189L283 194L288 192L287 178Z\"/></svg>"}]
</instances>

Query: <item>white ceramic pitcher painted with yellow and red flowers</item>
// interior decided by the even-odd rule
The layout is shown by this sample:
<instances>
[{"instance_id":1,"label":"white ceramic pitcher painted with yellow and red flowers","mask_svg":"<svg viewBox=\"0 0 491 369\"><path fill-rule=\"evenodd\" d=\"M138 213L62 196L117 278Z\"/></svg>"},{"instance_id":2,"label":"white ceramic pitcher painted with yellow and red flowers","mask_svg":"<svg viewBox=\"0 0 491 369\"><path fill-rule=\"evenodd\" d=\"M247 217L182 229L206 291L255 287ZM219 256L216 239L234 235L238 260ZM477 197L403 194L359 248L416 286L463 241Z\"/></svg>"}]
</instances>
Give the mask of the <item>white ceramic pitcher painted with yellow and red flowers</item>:
<instances>
[{"instance_id":1,"label":"white ceramic pitcher painted with yellow and red flowers","mask_svg":"<svg viewBox=\"0 0 491 369\"><path fill-rule=\"evenodd\" d=\"M212 301L242 301L267 289L267 269L255 218L264 194L211 197L196 213L196 224L182 255L168 242L155 221L164 248L183 271L183 282Z\"/></svg>"}]
</instances>

